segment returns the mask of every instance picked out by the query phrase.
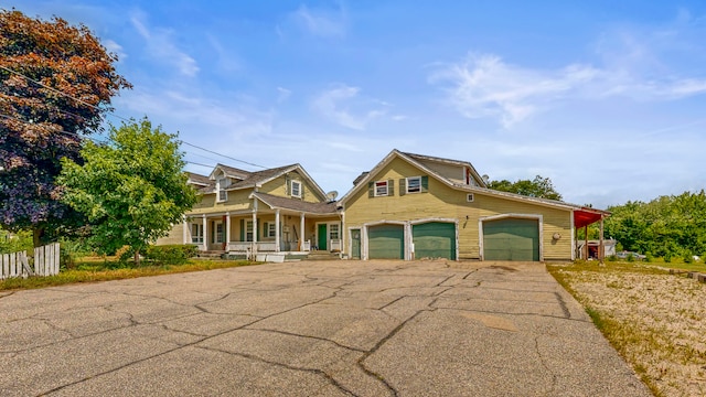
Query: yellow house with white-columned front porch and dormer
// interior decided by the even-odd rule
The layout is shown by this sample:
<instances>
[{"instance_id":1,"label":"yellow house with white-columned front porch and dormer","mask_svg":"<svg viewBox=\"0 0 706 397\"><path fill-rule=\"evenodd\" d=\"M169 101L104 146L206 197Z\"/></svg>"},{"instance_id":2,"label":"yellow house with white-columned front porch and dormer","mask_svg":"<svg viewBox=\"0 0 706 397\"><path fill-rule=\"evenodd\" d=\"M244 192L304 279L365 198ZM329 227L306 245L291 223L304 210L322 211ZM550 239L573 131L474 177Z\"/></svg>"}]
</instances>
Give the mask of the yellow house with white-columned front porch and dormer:
<instances>
[{"instance_id":1,"label":"yellow house with white-columned front porch and dormer","mask_svg":"<svg viewBox=\"0 0 706 397\"><path fill-rule=\"evenodd\" d=\"M335 197L299 164L257 172L217 164L207 176L189 173L189 184L200 202L157 244L246 256L341 249Z\"/></svg>"}]
</instances>

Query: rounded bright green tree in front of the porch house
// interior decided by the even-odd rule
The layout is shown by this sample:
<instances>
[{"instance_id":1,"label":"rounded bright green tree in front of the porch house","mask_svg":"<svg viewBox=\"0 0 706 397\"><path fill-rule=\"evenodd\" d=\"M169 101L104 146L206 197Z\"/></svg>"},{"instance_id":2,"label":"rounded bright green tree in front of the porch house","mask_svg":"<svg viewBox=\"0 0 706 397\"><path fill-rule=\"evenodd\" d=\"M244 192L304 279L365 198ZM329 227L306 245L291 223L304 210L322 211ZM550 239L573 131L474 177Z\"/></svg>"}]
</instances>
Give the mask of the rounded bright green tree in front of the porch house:
<instances>
[{"instance_id":1,"label":"rounded bright green tree in front of the porch house","mask_svg":"<svg viewBox=\"0 0 706 397\"><path fill-rule=\"evenodd\" d=\"M186 185L183 153L175 135L152 129L145 118L109 128L109 143L86 142L84 164L64 159L58 179L63 201L93 224L89 240L113 254L130 246L139 254L196 203Z\"/></svg>"}]
</instances>

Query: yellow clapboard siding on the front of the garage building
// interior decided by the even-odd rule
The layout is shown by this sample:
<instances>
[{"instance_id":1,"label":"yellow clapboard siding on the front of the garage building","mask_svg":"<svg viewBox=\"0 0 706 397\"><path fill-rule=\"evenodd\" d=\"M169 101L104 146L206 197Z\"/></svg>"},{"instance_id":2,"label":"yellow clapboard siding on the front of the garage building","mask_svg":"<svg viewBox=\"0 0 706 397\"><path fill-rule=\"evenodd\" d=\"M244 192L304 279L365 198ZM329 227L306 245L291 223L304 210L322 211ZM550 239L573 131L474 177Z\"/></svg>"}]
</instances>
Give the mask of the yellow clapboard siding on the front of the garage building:
<instances>
[{"instance_id":1,"label":"yellow clapboard siding on the front of the garage building","mask_svg":"<svg viewBox=\"0 0 706 397\"><path fill-rule=\"evenodd\" d=\"M468 203L468 192L450 187L435 178L429 178L428 193L400 195L399 179L421 174L419 169L407 161L399 158L391 161L371 181L395 181L395 195L368 197L367 189L361 189L345 204L346 230L379 222L457 219L459 259L479 259L480 218L503 214L541 215L544 260L569 260L571 258L569 211L481 193L474 193L474 201ZM554 240L552 238L554 233L561 234L563 238ZM346 249L349 248L346 247Z\"/></svg>"}]
</instances>

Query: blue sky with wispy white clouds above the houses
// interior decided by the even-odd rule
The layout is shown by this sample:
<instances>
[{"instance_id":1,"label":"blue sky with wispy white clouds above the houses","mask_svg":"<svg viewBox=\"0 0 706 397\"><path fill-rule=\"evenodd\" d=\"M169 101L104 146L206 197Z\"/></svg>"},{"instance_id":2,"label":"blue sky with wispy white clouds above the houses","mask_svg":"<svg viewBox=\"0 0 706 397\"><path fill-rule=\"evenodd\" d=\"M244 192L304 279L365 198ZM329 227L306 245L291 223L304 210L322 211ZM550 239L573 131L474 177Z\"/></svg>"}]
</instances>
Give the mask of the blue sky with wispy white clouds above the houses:
<instances>
[{"instance_id":1,"label":"blue sky with wispy white clouds above the houses","mask_svg":"<svg viewBox=\"0 0 706 397\"><path fill-rule=\"evenodd\" d=\"M392 149L596 207L706 187L703 1L0 1L84 23L114 100L344 194ZM108 120L119 124L120 119ZM258 168L183 146L188 170Z\"/></svg>"}]
</instances>

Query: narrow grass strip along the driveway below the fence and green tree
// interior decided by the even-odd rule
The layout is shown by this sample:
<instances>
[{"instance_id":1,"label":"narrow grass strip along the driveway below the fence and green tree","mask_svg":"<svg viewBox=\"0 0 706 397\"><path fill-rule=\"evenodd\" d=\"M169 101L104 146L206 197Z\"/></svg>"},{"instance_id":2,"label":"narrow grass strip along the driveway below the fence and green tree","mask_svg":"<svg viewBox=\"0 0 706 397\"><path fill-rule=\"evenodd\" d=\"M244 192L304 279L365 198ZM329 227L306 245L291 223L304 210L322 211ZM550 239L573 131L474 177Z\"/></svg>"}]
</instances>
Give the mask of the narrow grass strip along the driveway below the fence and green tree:
<instances>
[{"instance_id":1,"label":"narrow grass strip along the driveway below the fence and green tree","mask_svg":"<svg viewBox=\"0 0 706 397\"><path fill-rule=\"evenodd\" d=\"M200 259L190 259L183 265L150 265L149 262L143 264L145 265L135 267L133 264L120 264L114 258L87 257L77 261L72 269L62 269L62 271L56 276L30 277L26 279L11 278L1 280L0 291L44 288L75 282L121 280L137 277L171 275L188 271L201 271L254 265L254 262L247 260Z\"/></svg>"}]
</instances>

